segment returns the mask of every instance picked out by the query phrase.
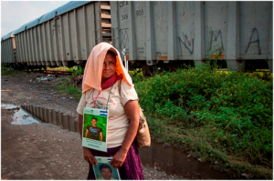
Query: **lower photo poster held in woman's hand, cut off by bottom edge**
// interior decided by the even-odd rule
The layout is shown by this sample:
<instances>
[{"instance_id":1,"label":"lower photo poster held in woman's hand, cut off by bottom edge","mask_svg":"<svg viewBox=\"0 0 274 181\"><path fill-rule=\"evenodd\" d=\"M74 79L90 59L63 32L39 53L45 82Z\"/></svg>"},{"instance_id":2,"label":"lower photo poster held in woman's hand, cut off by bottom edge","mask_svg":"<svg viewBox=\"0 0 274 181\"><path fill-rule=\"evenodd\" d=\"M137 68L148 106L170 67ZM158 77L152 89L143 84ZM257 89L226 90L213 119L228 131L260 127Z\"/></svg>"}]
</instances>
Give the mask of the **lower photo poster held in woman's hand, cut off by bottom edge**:
<instances>
[{"instance_id":1,"label":"lower photo poster held in woman's hand, cut off by bottom edge","mask_svg":"<svg viewBox=\"0 0 274 181\"><path fill-rule=\"evenodd\" d=\"M93 166L96 180L121 180L117 168L111 166L112 157L95 156L98 161L97 166Z\"/></svg>"}]
</instances>

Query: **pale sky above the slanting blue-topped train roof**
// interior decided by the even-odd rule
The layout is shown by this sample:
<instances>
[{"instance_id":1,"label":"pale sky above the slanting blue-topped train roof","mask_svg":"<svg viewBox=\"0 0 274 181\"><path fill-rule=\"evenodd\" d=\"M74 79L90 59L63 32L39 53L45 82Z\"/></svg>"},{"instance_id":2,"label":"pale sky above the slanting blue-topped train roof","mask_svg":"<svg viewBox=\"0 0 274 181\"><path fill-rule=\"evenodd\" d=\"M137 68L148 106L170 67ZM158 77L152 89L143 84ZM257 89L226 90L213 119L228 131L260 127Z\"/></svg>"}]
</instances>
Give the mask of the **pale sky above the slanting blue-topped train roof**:
<instances>
[{"instance_id":1,"label":"pale sky above the slanting blue-topped train roof","mask_svg":"<svg viewBox=\"0 0 274 181\"><path fill-rule=\"evenodd\" d=\"M1 37L68 2L1 0Z\"/></svg>"}]
</instances>

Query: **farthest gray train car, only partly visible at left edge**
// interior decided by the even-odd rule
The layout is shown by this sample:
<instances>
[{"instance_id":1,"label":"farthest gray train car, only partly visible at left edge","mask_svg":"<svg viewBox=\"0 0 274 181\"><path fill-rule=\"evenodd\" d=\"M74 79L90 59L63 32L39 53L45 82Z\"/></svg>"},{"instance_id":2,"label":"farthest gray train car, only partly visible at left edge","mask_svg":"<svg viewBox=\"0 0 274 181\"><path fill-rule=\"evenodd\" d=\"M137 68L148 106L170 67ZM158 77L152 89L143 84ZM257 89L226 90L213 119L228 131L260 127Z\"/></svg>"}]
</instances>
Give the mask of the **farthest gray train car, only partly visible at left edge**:
<instances>
[{"instance_id":1,"label":"farthest gray train car, only partly visible at left edge","mask_svg":"<svg viewBox=\"0 0 274 181\"><path fill-rule=\"evenodd\" d=\"M16 42L13 33L1 37L1 63L4 65L16 64Z\"/></svg>"}]
</instances>

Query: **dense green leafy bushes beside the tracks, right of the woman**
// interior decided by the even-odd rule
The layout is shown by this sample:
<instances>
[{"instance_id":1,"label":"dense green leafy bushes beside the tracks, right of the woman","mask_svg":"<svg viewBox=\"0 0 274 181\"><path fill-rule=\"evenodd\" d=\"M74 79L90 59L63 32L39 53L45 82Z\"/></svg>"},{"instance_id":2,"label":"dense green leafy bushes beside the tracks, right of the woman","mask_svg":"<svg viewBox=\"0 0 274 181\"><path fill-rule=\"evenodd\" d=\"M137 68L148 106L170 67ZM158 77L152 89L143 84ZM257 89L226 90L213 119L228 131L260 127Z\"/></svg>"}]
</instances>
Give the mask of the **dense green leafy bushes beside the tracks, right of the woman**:
<instances>
[{"instance_id":1,"label":"dense green leafy bushes beside the tracks, right of the woman","mask_svg":"<svg viewBox=\"0 0 274 181\"><path fill-rule=\"evenodd\" d=\"M272 79L272 75L216 71L206 63L163 72L135 88L146 116L152 117L155 136L170 136L205 158L237 156L271 167Z\"/></svg>"}]
</instances>

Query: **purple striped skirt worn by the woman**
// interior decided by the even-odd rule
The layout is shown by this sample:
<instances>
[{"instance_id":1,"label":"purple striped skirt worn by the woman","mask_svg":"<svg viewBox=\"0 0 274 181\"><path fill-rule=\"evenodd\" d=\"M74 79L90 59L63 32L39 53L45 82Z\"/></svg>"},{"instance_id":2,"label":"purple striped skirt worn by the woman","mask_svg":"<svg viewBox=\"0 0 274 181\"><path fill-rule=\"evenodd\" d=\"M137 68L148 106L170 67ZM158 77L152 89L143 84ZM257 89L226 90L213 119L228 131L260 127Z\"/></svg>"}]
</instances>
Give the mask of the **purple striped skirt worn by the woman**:
<instances>
[{"instance_id":1,"label":"purple striped skirt worn by the woman","mask_svg":"<svg viewBox=\"0 0 274 181\"><path fill-rule=\"evenodd\" d=\"M93 156L106 156L111 157L120 149L121 146L108 148L108 152L100 152L92 150ZM132 143L128 151L128 155L122 166L119 168L119 174L122 180L143 180L142 162L139 156L138 148L135 141ZM88 180L95 180L92 166L90 165L90 172Z\"/></svg>"}]
</instances>

